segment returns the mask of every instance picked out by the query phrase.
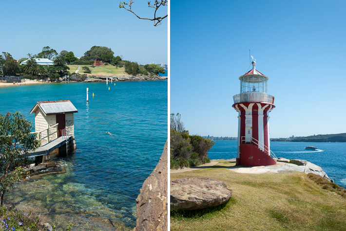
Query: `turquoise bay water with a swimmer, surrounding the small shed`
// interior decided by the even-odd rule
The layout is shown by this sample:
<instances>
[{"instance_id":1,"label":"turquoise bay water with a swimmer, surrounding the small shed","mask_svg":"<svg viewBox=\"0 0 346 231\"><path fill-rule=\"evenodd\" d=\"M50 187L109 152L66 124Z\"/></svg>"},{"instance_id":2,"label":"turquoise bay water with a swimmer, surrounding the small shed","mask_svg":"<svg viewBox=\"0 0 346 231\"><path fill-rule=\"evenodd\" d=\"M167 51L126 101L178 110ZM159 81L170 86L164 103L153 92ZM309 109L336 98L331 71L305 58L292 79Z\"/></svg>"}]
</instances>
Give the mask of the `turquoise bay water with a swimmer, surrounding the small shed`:
<instances>
[{"instance_id":1,"label":"turquoise bay water with a swimmer, surrounding the small shed","mask_svg":"<svg viewBox=\"0 0 346 231\"><path fill-rule=\"evenodd\" d=\"M37 207L60 228L135 227L135 199L167 140L167 80L11 86L0 88L0 97L0 113L19 110L31 121L38 101L71 100L78 109L77 150L54 157L66 173L20 183L5 194L7 203Z\"/></svg>"}]
</instances>

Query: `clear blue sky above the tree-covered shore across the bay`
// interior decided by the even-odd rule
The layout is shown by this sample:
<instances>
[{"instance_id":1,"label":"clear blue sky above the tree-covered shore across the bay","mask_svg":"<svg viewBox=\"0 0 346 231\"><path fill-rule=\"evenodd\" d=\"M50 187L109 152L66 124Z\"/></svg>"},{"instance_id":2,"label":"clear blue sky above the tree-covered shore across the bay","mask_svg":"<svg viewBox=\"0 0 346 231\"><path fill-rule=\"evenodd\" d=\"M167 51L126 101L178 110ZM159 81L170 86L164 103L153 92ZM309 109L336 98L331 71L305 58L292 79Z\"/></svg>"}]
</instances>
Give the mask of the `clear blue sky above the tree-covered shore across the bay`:
<instances>
[{"instance_id":1,"label":"clear blue sky above the tree-covered shore across the bay","mask_svg":"<svg viewBox=\"0 0 346 231\"><path fill-rule=\"evenodd\" d=\"M124 0L129 2L129 0ZM92 46L112 49L115 56L148 64L167 63L167 18L160 26L119 9L115 0L16 0L1 1L0 54L13 58L38 54L49 46L58 53L74 52L81 57ZM162 7L161 15L167 14ZM133 11L139 16L154 16L147 1L135 1Z\"/></svg>"}]
</instances>

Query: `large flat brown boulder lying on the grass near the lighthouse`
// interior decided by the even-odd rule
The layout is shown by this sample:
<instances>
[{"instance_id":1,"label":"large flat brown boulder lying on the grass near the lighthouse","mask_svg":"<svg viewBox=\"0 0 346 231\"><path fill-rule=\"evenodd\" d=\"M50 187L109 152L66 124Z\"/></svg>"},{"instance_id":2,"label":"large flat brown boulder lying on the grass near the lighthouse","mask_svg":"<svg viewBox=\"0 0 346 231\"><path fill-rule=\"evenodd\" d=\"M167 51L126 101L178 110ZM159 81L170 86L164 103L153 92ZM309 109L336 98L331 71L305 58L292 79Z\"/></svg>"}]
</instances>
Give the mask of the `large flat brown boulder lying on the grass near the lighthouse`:
<instances>
[{"instance_id":1,"label":"large flat brown boulder lying on the grass near the lighthouse","mask_svg":"<svg viewBox=\"0 0 346 231\"><path fill-rule=\"evenodd\" d=\"M227 202L232 190L225 182L211 178L182 178L171 182L171 208L204 209Z\"/></svg>"}]
</instances>

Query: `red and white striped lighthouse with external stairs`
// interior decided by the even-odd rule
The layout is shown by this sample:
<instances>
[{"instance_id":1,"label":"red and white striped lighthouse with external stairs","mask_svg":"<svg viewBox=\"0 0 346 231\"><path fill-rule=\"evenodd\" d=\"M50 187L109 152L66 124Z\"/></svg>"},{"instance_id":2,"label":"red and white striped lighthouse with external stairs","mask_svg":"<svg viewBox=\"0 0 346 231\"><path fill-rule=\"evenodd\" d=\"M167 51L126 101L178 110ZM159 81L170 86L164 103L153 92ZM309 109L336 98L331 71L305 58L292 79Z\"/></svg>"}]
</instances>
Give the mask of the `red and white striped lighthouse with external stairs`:
<instances>
[{"instance_id":1,"label":"red and white striped lighthouse with external stairs","mask_svg":"<svg viewBox=\"0 0 346 231\"><path fill-rule=\"evenodd\" d=\"M267 94L268 77L256 70L239 77L240 94L234 95L232 107L238 111L238 151L236 165L276 164L270 151L269 112L275 107L274 96Z\"/></svg>"}]
</instances>

